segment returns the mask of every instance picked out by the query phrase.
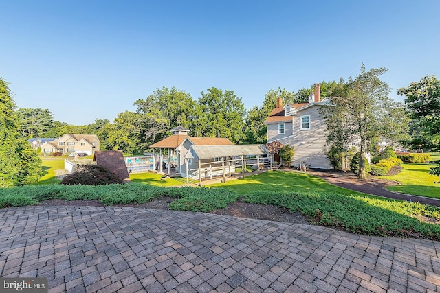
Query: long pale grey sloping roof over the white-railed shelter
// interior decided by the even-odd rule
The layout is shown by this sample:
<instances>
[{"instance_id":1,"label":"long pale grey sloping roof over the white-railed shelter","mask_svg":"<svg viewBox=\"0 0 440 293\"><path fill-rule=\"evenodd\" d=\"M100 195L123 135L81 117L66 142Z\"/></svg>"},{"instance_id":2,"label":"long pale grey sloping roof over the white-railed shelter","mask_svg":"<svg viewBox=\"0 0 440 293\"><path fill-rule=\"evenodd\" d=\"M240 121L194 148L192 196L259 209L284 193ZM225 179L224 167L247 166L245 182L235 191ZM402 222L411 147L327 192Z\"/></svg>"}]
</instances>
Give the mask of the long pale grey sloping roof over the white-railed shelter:
<instances>
[{"instance_id":1,"label":"long pale grey sloping roof over the white-railed shelter","mask_svg":"<svg viewBox=\"0 0 440 293\"><path fill-rule=\"evenodd\" d=\"M212 159L224 156L270 154L265 145L192 145L185 159Z\"/></svg>"}]
</instances>

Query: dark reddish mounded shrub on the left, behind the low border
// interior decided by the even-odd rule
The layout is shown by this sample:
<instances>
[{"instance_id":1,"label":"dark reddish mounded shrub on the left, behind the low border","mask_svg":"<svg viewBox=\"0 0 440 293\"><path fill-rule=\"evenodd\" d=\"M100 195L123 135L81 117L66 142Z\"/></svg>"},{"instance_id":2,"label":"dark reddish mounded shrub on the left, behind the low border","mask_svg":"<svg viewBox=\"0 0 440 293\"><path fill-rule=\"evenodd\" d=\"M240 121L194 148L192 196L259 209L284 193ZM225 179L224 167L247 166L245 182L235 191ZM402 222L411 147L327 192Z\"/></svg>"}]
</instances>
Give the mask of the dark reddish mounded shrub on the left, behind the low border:
<instances>
[{"instance_id":1,"label":"dark reddish mounded shrub on the left, behind the low border","mask_svg":"<svg viewBox=\"0 0 440 293\"><path fill-rule=\"evenodd\" d=\"M83 165L61 181L62 185L107 185L113 183L122 184L124 180L106 167L97 165Z\"/></svg>"}]
</instances>

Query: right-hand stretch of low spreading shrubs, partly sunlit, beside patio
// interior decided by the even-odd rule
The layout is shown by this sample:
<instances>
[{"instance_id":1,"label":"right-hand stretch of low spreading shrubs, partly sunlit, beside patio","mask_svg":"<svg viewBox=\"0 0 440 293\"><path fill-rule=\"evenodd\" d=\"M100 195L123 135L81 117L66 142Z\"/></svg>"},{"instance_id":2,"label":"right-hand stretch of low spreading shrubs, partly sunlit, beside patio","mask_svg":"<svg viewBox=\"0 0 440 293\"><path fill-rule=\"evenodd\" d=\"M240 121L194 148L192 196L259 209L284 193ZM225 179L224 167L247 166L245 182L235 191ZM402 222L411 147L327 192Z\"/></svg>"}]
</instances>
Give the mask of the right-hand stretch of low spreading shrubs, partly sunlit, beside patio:
<instances>
[{"instance_id":1,"label":"right-hand stretch of low spreading shrubs, partly sunlit, beside patio","mask_svg":"<svg viewBox=\"0 0 440 293\"><path fill-rule=\"evenodd\" d=\"M440 209L419 202L388 200L373 196L343 194L281 193L252 191L245 202L273 204L290 211L300 211L313 222L340 226L353 233L381 236L404 235L405 231L440 239L440 226L419 222L412 215L438 218Z\"/></svg>"}]
</instances>

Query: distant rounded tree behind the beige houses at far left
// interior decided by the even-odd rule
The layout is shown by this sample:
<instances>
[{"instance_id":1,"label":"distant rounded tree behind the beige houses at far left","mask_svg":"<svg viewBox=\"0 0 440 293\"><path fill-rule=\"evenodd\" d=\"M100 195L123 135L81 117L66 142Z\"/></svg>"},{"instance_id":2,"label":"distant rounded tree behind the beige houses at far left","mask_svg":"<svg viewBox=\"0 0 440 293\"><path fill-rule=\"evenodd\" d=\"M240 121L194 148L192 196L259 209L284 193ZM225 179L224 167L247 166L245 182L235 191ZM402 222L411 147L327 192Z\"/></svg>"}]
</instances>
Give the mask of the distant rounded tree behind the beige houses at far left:
<instances>
[{"instance_id":1,"label":"distant rounded tree behind the beige houses at far left","mask_svg":"<svg viewBox=\"0 0 440 293\"><path fill-rule=\"evenodd\" d=\"M47 137L46 133L54 126L54 115L48 109L20 108L17 110L20 130L23 137Z\"/></svg>"}]
</instances>

